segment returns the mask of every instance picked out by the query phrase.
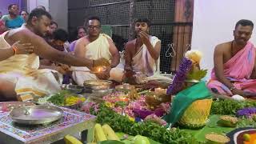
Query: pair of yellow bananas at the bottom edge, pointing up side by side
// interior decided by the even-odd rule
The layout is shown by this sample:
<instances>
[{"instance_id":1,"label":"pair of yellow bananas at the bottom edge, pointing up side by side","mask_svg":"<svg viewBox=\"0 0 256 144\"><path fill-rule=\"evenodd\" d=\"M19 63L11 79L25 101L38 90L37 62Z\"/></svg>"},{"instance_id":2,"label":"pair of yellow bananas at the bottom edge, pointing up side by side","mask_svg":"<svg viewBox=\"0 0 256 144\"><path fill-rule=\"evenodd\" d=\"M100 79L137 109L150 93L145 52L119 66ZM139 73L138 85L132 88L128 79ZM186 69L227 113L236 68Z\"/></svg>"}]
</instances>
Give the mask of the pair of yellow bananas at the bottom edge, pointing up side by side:
<instances>
[{"instance_id":1,"label":"pair of yellow bananas at the bottom edge, pointing up side by side","mask_svg":"<svg viewBox=\"0 0 256 144\"><path fill-rule=\"evenodd\" d=\"M120 141L118 136L114 133L114 130L108 125L96 123L94 126L94 142L101 142L106 140Z\"/></svg>"}]
</instances>

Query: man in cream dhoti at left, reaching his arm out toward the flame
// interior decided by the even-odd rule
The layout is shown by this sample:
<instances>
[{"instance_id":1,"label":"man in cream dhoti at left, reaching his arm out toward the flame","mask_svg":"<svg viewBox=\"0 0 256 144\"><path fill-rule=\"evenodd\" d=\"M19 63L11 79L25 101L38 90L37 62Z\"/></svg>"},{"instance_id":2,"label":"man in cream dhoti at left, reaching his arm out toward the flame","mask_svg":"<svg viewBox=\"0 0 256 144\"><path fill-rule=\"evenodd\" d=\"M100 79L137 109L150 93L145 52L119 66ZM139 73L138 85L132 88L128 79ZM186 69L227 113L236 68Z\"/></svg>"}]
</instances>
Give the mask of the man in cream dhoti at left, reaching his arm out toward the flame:
<instances>
[{"instance_id":1,"label":"man in cream dhoti at left, reaching his arm out toward the flame","mask_svg":"<svg viewBox=\"0 0 256 144\"><path fill-rule=\"evenodd\" d=\"M0 61L0 81L3 82L0 87L1 97L16 98L16 95L21 96L20 98L41 97L60 90L59 83L55 80L51 70L38 70L38 56L70 66L109 65L109 62L103 58L99 60L74 58L48 45L40 36L46 34L50 21L51 16L48 12L34 9L25 25L0 35L0 48L10 47L18 41L31 43L34 46L33 54L15 54Z\"/></svg>"}]
</instances>

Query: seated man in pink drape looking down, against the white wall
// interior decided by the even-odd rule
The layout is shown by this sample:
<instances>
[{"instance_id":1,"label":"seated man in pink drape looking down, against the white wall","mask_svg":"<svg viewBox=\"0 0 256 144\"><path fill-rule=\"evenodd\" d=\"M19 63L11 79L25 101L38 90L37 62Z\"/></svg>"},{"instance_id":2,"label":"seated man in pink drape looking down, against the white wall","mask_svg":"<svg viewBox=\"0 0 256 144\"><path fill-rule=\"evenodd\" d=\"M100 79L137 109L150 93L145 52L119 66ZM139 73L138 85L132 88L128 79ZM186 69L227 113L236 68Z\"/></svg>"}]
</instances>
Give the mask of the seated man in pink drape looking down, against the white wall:
<instances>
[{"instance_id":1,"label":"seated man in pink drape looking down, against the white wall","mask_svg":"<svg viewBox=\"0 0 256 144\"><path fill-rule=\"evenodd\" d=\"M248 42L254 23L242 19L234 28L234 40L215 47L214 69L207 86L218 94L256 96L255 47Z\"/></svg>"}]
</instances>

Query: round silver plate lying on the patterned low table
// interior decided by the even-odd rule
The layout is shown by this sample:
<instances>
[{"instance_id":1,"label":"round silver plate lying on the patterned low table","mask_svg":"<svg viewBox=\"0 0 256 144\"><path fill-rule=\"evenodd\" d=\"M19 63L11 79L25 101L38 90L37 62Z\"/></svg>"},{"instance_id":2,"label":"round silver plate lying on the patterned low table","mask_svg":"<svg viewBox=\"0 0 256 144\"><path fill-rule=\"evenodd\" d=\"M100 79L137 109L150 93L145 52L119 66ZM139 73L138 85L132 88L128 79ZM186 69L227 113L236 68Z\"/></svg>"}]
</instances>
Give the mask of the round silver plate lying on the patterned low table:
<instances>
[{"instance_id":1,"label":"round silver plate lying on the patterned low table","mask_svg":"<svg viewBox=\"0 0 256 144\"><path fill-rule=\"evenodd\" d=\"M56 106L26 106L10 112L14 122L28 125L45 124L62 118L63 110Z\"/></svg>"}]
</instances>

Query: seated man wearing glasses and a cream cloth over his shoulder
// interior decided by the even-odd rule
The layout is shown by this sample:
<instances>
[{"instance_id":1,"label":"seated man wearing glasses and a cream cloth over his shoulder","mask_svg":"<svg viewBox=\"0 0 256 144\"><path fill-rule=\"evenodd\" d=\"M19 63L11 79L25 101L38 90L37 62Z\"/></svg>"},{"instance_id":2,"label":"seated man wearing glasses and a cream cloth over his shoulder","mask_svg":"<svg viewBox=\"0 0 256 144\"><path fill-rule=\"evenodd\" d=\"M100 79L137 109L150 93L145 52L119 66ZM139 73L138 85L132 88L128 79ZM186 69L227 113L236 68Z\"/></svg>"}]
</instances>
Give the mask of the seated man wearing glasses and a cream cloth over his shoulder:
<instances>
[{"instance_id":1,"label":"seated man wearing glasses and a cream cloth over his shoulder","mask_svg":"<svg viewBox=\"0 0 256 144\"><path fill-rule=\"evenodd\" d=\"M98 59L106 58L110 62L110 66L102 73L91 74L87 67L75 67L72 76L74 81L82 86L85 80L90 79L108 79L115 66L118 66L120 54L114 46L112 39L106 34L100 34L101 22L98 17L88 18L88 35L78 39L74 48L74 56L78 58ZM94 71L94 70L93 70ZM114 74L113 74L114 75Z\"/></svg>"}]
</instances>

